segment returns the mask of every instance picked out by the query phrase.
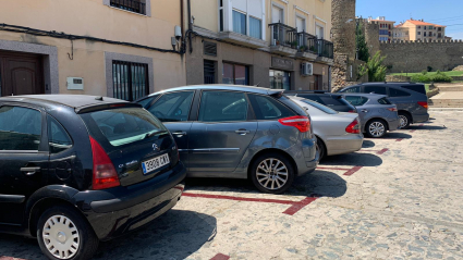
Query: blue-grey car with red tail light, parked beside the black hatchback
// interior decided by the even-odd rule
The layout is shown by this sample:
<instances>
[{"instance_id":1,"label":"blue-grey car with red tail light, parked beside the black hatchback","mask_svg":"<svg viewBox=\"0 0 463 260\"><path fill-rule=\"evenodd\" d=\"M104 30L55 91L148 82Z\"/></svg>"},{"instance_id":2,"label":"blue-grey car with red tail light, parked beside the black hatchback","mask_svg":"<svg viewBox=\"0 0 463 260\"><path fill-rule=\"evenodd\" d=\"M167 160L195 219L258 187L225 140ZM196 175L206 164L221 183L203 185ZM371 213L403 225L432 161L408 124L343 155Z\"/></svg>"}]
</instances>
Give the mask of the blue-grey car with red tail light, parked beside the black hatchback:
<instances>
[{"instance_id":1,"label":"blue-grey car with red tail light, parked beside the black hatchback","mask_svg":"<svg viewBox=\"0 0 463 260\"><path fill-rule=\"evenodd\" d=\"M305 111L281 89L233 85L171 88L142 100L172 133L191 177L251 178L287 190L318 163Z\"/></svg>"}]
</instances>

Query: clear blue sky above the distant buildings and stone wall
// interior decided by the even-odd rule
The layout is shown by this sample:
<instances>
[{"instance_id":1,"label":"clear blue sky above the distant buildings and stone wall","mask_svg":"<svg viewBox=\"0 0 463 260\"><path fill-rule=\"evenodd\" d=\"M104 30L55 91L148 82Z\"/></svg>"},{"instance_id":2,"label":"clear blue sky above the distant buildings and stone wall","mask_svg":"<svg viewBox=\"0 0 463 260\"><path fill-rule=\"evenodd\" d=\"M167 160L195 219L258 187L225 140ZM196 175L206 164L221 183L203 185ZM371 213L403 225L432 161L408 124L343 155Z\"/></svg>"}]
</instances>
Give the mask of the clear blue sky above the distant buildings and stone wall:
<instances>
[{"instance_id":1,"label":"clear blue sky above the distant buildings and stone wall","mask_svg":"<svg viewBox=\"0 0 463 260\"><path fill-rule=\"evenodd\" d=\"M386 16L397 24L410 17L424 18L428 23L448 25L447 36L463 39L463 0L356 0L356 15Z\"/></svg>"}]
</instances>

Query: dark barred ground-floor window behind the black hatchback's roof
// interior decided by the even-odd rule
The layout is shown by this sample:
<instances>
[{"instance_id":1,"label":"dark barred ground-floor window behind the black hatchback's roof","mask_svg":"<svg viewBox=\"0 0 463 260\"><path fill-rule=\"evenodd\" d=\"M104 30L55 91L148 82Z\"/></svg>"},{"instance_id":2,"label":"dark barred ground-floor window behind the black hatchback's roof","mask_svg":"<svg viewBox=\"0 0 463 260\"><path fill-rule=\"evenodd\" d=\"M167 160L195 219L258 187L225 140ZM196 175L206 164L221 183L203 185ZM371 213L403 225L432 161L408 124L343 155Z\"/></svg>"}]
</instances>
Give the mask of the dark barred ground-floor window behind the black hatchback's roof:
<instances>
[{"instance_id":1,"label":"dark barred ground-floor window behind the black hatchback's roof","mask_svg":"<svg viewBox=\"0 0 463 260\"><path fill-rule=\"evenodd\" d=\"M148 95L148 64L112 61L113 97L133 101Z\"/></svg>"}]
</instances>

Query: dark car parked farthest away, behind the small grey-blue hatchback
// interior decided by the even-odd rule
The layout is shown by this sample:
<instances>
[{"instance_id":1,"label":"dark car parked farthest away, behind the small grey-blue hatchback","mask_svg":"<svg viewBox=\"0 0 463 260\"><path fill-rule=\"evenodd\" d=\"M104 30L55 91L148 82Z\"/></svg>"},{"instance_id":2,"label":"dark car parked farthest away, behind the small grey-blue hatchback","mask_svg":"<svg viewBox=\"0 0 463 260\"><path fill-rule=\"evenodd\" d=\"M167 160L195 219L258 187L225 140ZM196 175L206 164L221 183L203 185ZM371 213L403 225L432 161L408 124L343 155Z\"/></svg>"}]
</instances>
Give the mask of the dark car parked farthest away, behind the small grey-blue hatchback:
<instances>
[{"instance_id":1,"label":"dark car parked farthest away, behind the small grey-blue hatchback","mask_svg":"<svg viewBox=\"0 0 463 260\"><path fill-rule=\"evenodd\" d=\"M425 85L417 83L364 83L345 87L341 94L365 92L387 95L399 110L400 127L406 129L410 124L429 120L428 98Z\"/></svg>"}]
</instances>

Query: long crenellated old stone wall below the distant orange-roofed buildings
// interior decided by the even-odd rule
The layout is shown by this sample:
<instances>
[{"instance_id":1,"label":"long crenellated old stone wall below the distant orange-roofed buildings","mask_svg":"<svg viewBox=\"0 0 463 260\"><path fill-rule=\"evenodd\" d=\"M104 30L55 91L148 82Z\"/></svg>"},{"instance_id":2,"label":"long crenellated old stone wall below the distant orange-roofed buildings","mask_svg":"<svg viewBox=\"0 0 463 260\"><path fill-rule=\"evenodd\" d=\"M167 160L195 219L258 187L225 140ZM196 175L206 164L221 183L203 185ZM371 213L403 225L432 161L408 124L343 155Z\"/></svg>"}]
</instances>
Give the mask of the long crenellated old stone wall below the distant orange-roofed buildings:
<instances>
[{"instance_id":1,"label":"long crenellated old stone wall below the distant orange-roofed buildings","mask_svg":"<svg viewBox=\"0 0 463 260\"><path fill-rule=\"evenodd\" d=\"M392 66L389 72L451 71L463 64L462 40L380 42L383 64Z\"/></svg>"}]
</instances>

